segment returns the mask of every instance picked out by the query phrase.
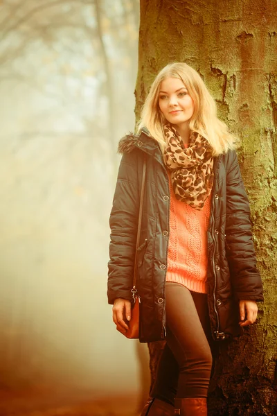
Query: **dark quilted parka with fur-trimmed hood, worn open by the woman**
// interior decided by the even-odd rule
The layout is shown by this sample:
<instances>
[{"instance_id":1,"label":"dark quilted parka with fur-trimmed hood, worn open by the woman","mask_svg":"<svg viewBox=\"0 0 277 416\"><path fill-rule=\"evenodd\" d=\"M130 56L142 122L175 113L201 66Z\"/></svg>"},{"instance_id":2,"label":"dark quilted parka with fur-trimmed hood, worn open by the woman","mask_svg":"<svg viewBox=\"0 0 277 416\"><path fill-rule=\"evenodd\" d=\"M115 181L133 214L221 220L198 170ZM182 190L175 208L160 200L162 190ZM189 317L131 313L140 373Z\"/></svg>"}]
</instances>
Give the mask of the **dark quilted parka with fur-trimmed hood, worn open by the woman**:
<instances>
[{"instance_id":1,"label":"dark quilted parka with fur-trimmed hood, worn open by the woman","mask_svg":"<svg viewBox=\"0 0 277 416\"><path fill-rule=\"evenodd\" d=\"M128 135L118 146L123 157L111 209L108 301L131 300L143 158L146 182L137 289L141 296L140 341L166 338L165 281L168 257L170 189L159 144L148 134ZM240 333L238 301L262 301L250 210L235 151L215 157L208 226L208 309L213 338Z\"/></svg>"}]
</instances>

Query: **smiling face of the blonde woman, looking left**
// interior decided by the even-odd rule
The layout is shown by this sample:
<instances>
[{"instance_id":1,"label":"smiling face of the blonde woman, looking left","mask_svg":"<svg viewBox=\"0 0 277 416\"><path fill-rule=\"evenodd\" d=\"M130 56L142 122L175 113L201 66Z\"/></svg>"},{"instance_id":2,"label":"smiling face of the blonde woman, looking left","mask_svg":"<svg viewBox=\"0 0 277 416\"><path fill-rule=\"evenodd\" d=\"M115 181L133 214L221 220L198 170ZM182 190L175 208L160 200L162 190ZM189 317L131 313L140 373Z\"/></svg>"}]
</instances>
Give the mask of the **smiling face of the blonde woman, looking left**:
<instances>
[{"instance_id":1,"label":"smiling face of the blonde woman, looking left","mask_svg":"<svg viewBox=\"0 0 277 416\"><path fill-rule=\"evenodd\" d=\"M193 116L195 105L179 78L165 78L159 89L159 107L166 120L181 128Z\"/></svg>"}]
</instances>

